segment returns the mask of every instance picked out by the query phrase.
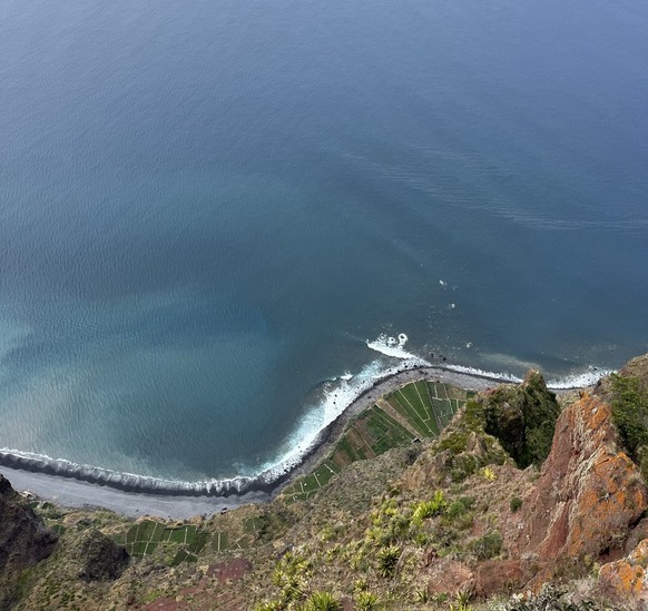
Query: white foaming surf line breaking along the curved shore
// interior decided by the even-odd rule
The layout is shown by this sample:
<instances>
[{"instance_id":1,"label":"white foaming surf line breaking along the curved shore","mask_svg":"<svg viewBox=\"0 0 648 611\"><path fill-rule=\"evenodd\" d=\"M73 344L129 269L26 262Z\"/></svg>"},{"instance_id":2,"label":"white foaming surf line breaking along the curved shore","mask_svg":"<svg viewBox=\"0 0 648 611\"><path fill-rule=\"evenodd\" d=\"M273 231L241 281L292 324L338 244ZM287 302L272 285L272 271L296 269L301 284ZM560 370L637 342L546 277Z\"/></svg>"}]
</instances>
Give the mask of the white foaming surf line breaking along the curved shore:
<instances>
[{"instance_id":1,"label":"white foaming surf line breaking along the curved shore","mask_svg":"<svg viewBox=\"0 0 648 611\"><path fill-rule=\"evenodd\" d=\"M124 492L183 496L239 496L247 492L271 494L318 446L337 417L363 393L382 380L408 369L434 367L493 382L520 383L522 381L508 372L489 372L451 363L443 363L442 366L431 365L428 361L405 351L406 342L405 334L400 334L397 338L381 334L373 342L367 339L366 346L383 356L365 365L359 373L352 374L346 371L344 374L325 382L321 388L320 400L301 418L294 432L278 449L275 459L262 465L261 472L255 475L194 482L168 480L78 464L65 459L52 459L45 454L8 447L0 449L0 465L76 479ZM394 362L394 359L397 361ZM549 380L547 385L552 390L579 388L593 385L601 376L610 373L612 373L611 369L599 369L591 366L583 373Z\"/></svg>"}]
</instances>

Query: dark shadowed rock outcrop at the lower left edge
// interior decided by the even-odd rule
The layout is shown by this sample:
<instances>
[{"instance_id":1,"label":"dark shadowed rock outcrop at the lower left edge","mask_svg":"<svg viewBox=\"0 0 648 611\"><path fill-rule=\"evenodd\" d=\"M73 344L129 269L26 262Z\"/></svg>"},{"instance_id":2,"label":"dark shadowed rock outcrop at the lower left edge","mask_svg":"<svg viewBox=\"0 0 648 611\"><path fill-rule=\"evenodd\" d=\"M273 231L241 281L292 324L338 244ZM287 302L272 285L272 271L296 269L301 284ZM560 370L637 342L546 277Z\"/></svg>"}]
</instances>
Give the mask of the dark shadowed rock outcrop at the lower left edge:
<instances>
[{"instance_id":1,"label":"dark shadowed rock outcrop at the lower left edge","mask_svg":"<svg viewBox=\"0 0 648 611\"><path fill-rule=\"evenodd\" d=\"M21 572L50 555L57 539L0 475L0 609L9 605Z\"/></svg>"}]
</instances>

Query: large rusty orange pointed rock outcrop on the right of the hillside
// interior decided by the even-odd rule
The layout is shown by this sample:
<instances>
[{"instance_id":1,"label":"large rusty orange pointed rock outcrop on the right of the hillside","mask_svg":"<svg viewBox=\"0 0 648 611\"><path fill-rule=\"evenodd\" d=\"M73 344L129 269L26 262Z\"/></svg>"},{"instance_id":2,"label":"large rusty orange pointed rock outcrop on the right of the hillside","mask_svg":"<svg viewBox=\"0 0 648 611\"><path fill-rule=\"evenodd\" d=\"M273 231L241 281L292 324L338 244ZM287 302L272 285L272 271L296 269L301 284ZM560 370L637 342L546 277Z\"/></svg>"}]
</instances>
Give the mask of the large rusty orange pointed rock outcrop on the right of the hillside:
<instances>
[{"instance_id":1,"label":"large rusty orange pointed rock outcrop on the right of the hillside","mask_svg":"<svg viewBox=\"0 0 648 611\"><path fill-rule=\"evenodd\" d=\"M509 551L559 559L603 559L622 550L648 506L635 463L618 451L610 406L585 394L558 418L540 479L524 499Z\"/></svg>"}]
</instances>

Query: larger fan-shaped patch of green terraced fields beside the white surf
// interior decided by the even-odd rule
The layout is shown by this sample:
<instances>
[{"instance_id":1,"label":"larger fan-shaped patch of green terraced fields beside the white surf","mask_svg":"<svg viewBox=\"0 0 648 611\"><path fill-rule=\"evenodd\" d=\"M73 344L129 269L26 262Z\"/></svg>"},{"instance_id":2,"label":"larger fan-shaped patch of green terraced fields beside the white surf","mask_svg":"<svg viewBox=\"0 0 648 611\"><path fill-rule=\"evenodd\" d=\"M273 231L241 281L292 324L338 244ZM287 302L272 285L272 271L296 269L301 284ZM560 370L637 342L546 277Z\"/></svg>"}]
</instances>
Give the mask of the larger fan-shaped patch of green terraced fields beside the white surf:
<instances>
[{"instance_id":1,"label":"larger fan-shaped patch of green terraced fields beside the white surf","mask_svg":"<svg viewBox=\"0 0 648 611\"><path fill-rule=\"evenodd\" d=\"M331 455L313 473L284 490L284 496L293 501L308 499L355 461L372 459L415 440L435 437L473 394L441 382L420 380L384 395L350 423Z\"/></svg>"}]
</instances>

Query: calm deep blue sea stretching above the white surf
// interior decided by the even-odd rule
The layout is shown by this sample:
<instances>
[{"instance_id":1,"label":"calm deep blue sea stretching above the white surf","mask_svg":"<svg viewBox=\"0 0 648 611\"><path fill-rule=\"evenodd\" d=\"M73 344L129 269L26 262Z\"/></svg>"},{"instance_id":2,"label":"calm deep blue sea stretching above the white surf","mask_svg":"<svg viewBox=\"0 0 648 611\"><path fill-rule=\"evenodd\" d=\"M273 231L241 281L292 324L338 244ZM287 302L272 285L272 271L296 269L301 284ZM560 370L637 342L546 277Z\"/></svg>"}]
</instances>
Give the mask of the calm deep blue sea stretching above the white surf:
<instances>
[{"instance_id":1,"label":"calm deep blue sea stretching above the white surf","mask_svg":"<svg viewBox=\"0 0 648 611\"><path fill-rule=\"evenodd\" d=\"M399 363L381 333L553 378L646 352L646 31L639 0L4 0L0 446L252 474Z\"/></svg>"}]
</instances>

